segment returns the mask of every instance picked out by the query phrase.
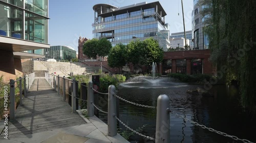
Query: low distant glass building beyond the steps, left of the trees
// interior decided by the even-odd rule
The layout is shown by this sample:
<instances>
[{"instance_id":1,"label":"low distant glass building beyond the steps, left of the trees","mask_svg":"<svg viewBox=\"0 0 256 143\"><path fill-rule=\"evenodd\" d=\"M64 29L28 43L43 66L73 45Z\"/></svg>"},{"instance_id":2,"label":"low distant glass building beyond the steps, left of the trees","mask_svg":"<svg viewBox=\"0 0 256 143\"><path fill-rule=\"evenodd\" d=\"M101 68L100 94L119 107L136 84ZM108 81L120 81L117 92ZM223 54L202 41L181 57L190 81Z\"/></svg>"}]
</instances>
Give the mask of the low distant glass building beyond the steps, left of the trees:
<instances>
[{"instance_id":1,"label":"low distant glass building beyond the steps, left of the trees","mask_svg":"<svg viewBox=\"0 0 256 143\"><path fill-rule=\"evenodd\" d=\"M76 59L76 50L68 46L51 46L45 49L45 56L49 59L70 61Z\"/></svg>"}]
</instances>

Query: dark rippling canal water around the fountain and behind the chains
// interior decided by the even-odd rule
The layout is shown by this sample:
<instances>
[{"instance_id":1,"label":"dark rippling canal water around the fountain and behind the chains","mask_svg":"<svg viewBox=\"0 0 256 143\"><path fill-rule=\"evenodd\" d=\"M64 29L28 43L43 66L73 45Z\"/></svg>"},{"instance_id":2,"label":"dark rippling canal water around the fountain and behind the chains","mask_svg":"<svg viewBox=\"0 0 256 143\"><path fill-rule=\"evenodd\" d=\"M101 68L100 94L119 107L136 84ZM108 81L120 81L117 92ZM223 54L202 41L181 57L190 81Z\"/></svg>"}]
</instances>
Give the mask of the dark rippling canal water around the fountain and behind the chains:
<instances>
[{"instance_id":1,"label":"dark rippling canal water around the fountain and behind the chains","mask_svg":"<svg viewBox=\"0 0 256 143\"><path fill-rule=\"evenodd\" d=\"M166 94L170 98L170 109L189 120L206 127L256 142L256 116L240 106L239 92L234 86L214 85L210 92L214 96L205 97L187 94L187 90L203 88L202 85L181 83L174 80L153 82L122 83L117 95L135 103L157 106L157 97ZM108 106L104 106L107 109ZM99 118L106 122L106 115L100 113ZM135 106L119 101L119 119L132 129L155 137L156 109ZM119 125L122 130L127 130ZM143 127L144 126L144 127ZM143 127L143 128L141 128ZM152 142L139 135L133 135L130 141ZM171 142L241 142L229 137L210 132L195 126L170 113Z\"/></svg>"}]
</instances>

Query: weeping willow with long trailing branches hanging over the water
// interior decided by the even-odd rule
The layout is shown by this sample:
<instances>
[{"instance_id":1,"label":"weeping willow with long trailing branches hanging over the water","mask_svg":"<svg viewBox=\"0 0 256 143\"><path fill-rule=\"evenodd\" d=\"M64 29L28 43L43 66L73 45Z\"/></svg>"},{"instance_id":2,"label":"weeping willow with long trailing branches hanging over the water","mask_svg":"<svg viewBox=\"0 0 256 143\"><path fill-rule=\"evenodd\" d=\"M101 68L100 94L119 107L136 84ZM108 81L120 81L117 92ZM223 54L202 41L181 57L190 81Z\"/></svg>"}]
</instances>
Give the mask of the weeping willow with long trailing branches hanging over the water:
<instances>
[{"instance_id":1,"label":"weeping willow with long trailing branches hanging over the water","mask_svg":"<svg viewBox=\"0 0 256 143\"><path fill-rule=\"evenodd\" d=\"M243 107L256 110L256 1L202 0L210 60L237 80Z\"/></svg>"}]
</instances>

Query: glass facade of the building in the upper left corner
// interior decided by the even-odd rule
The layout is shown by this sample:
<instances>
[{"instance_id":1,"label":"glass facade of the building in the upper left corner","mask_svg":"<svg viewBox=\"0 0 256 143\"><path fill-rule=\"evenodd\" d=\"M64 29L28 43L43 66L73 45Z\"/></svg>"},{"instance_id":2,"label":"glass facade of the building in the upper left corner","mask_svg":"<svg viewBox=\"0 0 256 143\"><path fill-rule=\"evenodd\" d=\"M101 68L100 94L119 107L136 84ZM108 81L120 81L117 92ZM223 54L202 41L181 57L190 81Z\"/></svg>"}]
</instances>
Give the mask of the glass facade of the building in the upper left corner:
<instances>
[{"instance_id":1,"label":"glass facade of the building in the upper left corner","mask_svg":"<svg viewBox=\"0 0 256 143\"><path fill-rule=\"evenodd\" d=\"M48 43L48 0L0 0L0 13L0 35Z\"/></svg>"}]
</instances>

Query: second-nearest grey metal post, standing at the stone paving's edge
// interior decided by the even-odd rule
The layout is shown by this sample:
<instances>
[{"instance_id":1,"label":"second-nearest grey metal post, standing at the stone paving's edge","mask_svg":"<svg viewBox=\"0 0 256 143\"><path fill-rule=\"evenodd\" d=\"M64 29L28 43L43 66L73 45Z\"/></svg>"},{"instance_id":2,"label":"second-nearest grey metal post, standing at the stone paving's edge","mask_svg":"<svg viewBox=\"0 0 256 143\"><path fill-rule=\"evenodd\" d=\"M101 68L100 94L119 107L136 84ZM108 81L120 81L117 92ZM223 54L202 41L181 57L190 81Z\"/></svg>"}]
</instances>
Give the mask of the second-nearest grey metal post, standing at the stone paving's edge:
<instances>
[{"instance_id":1,"label":"second-nearest grey metal post, standing at the stone paving's edge","mask_svg":"<svg viewBox=\"0 0 256 143\"><path fill-rule=\"evenodd\" d=\"M114 96L116 87L114 85L109 86L109 102L108 102L108 135L117 135L116 124L116 97Z\"/></svg>"}]
</instances>

